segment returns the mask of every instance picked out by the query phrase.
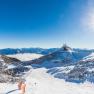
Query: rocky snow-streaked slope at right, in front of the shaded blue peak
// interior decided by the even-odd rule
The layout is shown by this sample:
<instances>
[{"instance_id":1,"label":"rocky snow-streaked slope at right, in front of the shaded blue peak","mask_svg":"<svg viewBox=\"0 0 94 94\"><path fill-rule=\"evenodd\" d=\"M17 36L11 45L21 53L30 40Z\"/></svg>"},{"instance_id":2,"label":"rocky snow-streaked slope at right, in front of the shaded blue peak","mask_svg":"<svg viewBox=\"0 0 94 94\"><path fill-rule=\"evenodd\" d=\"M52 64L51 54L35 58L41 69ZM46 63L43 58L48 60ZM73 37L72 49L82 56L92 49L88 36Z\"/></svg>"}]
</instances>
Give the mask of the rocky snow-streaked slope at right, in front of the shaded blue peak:
<instances>
[{"instance_id":1,"label":"rocky snow-streaked slope at right, in front of the shaded blue peak","mask_svg":"<svg viewBox=\"0 0 94 94\"><path fill-rule=\"evenodd\" d=\"M48 70L48 73L56 78L65 79L70 82L94 82L94 53L72 65L51 68Z\"/></svg>"}]
</instances>

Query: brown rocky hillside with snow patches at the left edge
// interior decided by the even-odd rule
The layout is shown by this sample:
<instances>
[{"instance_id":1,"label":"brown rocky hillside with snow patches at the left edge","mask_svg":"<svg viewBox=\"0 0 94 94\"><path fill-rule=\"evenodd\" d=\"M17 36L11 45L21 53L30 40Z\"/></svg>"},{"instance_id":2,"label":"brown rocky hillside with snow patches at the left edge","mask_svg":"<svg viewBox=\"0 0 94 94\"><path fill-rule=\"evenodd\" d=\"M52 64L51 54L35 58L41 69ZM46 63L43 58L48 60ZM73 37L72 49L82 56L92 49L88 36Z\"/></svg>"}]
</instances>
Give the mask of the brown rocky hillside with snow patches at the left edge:
<instances>
[{"instance_id":1,"label":"brown rocky hillside with snow patches at the left edge","mask_svg":"<svg viewBox=\"0 0 94 94\"><path fill-rule=\"evenodd\" d=\"M0 56L0 82L12 81L28 70L29 68L23 66L19 59L5 55Z\"/></svg>"}]
</instances>

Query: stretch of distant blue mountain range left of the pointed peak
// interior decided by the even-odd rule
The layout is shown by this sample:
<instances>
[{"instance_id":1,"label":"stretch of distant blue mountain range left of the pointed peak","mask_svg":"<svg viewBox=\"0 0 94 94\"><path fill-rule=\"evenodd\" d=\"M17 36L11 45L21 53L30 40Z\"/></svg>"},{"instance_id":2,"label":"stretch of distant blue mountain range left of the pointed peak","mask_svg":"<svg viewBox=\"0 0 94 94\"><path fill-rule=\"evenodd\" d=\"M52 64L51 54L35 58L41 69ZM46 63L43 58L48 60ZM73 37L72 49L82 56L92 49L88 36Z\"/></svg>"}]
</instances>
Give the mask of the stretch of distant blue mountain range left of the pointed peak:
<instances>
[{"instance_id":1,"label":"stretch of distant blue mountain range left of the pointed peak","mask_svg":"<svg viewBox=\"0 0 94 94\"><path fill-rule=\"evenodd\" d=\"M36 54L43 54L47 55L49 53L52 53L56 51L58 48L49 48L49 49L43 49L43 48L6 48L6 49L0 49L1 55L12 55L12 54L22 54L22 53L36 53Z\"/></svg>"}]
</instances>

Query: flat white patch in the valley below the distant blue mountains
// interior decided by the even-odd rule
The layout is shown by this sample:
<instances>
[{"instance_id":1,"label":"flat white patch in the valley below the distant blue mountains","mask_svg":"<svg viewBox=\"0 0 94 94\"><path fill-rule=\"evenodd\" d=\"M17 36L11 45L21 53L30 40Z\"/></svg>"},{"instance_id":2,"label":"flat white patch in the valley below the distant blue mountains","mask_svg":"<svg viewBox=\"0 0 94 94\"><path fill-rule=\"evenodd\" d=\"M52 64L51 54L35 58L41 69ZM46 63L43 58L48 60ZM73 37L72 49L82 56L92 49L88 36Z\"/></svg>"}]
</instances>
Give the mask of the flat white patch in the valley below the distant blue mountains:
<instances>
[{"instance_id":1,"label":"flat white patch in the valley below the distant blue mountains","mask_svg":"<svg viewBox=\"0 0 94 94\"><path fill-rule=\"evenodd\" d=\"M24 53L24 54L14 54L14 55L7 55L9 57L14 57L17 58L21 61L29 61L29 60L33 60L33 59L37 59L43 55L41 54L35 54L35 53Z\"/></svg>"}]
</instances>

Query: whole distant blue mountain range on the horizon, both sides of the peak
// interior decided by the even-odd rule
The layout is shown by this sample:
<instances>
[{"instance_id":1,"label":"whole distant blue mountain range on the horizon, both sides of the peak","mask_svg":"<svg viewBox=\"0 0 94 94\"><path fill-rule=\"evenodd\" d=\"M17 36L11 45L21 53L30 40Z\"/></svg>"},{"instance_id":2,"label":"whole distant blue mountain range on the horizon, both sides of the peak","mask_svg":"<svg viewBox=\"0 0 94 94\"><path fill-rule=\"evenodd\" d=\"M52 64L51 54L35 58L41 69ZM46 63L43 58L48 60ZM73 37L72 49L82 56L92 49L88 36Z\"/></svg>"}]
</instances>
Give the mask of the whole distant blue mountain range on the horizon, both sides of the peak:
<instances>
[{"instance_id":1,"label":"whole distant blue mountain range on the horizon, both sides of the peak","mask_svg":"<svg viewBox=\"0 0 94 94\"><path fill-rule=\"evenodd\" d=\"M36 53L36 54L43 54L47 55L52 52L55 52L59 50L60 48L49 48L49 49L43 49L43 48L6 48L6 49L0 49L0 55L12 55L17 53ZM74 48L74 51L80 52L82 54L84 53L91 53L94 52L94 49L78 49Z\"/></svg>"}]
</instances>

